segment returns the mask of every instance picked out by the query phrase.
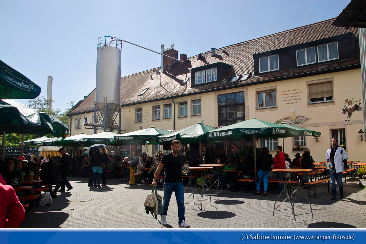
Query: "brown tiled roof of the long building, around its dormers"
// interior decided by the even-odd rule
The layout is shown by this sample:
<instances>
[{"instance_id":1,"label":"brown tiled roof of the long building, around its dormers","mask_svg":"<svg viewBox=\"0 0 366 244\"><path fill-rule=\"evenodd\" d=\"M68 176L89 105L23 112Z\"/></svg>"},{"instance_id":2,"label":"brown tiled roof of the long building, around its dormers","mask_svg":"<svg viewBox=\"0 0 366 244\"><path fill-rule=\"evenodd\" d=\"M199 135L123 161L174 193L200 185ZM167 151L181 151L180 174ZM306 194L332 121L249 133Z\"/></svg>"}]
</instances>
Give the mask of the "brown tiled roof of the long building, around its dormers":
<instances>
[{"instance_id":1,"label":"brown tiled roof of the long building, around its dormers","mask_svg":"<svg viewBox=\"0 0 366 244\"><path fill-rule=\"evenodd\" d=\"M158 68L139 72L137 74L124 76L121 78L121 101L122 106L138 102L151 101L156 99L170 98L172 96L189 95L192 93L205 92L210 89L225 89L225 87L249 85L253 82L260 82L270 80L275 77L283 75L294 75L309 71L316 71L326 69L327 65L332 67L342 67L351 64L359 64L359 52L356 48L355 55L345 60L336 60L333 62L321 63L311 67L296 68L296 70L270 73L268 75L255 76L252 75L245 81L230 82L221 84L221 82L208 84L204 86L191 87L190 69L203 66L205 64L212 64L223 62L230 64L231 69L228 70L225 76L243 75L246 73L254 74L254 53L262 53L279 48L285 48L292 45L302 44L314 40L320 40L327 37L333 37L344 33L352 32L358 38L358 30L356 28L345 28L332 26L335 19L328 19L322 22L314 23L298 27L295 29L282 31L276 34L267 35L265 37L240 42L238 44L226 46L215 50L215 56L211 56L211 51L202 53L202 59L198 60L198 55L190 57L187 61L182 63L173 63L171 67L164 68L164 73L156 74ZM202 61L204 60L204 61ZM185 78L189 78L185 82ZM143 89L149 89L141 96L138 94ZM95 89L84 99L84 101L69 114L81 113L91 111L94 109Z\"/></svg>"}]
</instances>

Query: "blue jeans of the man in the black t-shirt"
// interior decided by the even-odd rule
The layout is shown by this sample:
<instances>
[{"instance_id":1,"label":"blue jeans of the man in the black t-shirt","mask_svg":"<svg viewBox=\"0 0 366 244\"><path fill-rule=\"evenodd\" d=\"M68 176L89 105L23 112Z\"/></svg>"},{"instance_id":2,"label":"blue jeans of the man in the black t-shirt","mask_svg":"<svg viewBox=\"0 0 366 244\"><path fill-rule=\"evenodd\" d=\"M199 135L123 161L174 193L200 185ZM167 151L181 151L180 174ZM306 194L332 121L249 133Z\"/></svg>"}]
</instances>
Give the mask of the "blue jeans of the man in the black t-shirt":
<instances>
[{"instance_id":1,"label":"blue jeans of the man in the black t-shirt","mask_svg":"<svg viewBox=\"0 0 366 244\"><path fill-rule=\"evenodd\" d=\"M164 213L161 215L167 215L168 206L172 193L175 192L175 198L178 204L178 225L182 224L184 218L184 187L182 182L170 183L164 181L164 196L163 196L163 207Z\"/></svg>"}]
</instances>

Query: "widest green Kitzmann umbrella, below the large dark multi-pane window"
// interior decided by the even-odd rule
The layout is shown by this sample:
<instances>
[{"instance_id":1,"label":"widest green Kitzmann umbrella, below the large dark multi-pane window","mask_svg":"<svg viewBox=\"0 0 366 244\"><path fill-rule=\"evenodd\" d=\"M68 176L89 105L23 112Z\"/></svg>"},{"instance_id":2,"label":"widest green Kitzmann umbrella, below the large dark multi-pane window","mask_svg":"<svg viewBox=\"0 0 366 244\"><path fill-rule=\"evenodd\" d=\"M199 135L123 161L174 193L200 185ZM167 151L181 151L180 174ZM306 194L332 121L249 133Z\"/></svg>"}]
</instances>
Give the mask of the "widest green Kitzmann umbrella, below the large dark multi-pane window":
<instances>
[{"instance_id":1,"label":"widest green Kitzmann umbrella, below the large dark multi-pane window","mask_svg":"<svg viewBox=\"0 0 366 244\"><path fill-rule=\"evenodd\" d=\"M214 131L207 132L209 139L253 139L255 138L283 138L293 137L291 129L281 124L274 124L263 120L250 119L236 124L228 125ZM294 131L294 133L297 133Z\"/></svg>"}]
</instances>

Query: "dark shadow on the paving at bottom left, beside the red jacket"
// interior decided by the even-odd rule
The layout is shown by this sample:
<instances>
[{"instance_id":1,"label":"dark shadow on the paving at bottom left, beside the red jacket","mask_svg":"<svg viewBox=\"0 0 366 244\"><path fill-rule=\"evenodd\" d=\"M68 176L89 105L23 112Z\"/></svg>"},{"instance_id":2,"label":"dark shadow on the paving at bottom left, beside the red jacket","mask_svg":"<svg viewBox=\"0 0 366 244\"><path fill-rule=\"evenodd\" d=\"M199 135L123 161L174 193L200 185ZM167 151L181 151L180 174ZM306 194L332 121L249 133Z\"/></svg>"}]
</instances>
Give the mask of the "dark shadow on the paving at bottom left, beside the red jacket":
<instances>
[{"instance_id":1,"label":"dark shadow on the paving at bottom left, beside the red jacket","mask_svg":"<svg viewBox=\"0 0 366 244\"><path fill-rule=\"evenodd\" d=\"M31 225L21 224L19 228L61 228L60 225L66 221L68 216L68 213L63 212L32 213L33 221L27 222ZM48 221L49 219L52 221Z\"/></svg>"}]
</instances>

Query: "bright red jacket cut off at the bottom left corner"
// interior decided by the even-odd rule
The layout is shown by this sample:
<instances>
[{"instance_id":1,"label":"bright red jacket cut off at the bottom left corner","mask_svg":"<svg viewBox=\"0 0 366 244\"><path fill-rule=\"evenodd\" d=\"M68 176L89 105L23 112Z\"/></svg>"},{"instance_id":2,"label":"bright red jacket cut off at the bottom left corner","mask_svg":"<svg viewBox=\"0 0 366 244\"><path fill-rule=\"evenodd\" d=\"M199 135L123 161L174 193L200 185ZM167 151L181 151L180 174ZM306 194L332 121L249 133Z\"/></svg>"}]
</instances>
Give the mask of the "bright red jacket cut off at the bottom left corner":
<instances>
[{"instance_id":1,"label":"bright red jacket cut off at the bottom left corner","mask_svg":"<svg viewBox=\"0 0 366 244\"><path fill-rule=\"evenodd\" d=\"M24 214L23 205L11 185L0 183L0 228L18 228Z\"/></svg>"}]
</instances>

